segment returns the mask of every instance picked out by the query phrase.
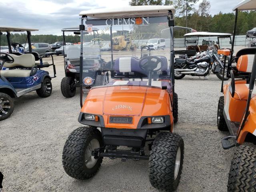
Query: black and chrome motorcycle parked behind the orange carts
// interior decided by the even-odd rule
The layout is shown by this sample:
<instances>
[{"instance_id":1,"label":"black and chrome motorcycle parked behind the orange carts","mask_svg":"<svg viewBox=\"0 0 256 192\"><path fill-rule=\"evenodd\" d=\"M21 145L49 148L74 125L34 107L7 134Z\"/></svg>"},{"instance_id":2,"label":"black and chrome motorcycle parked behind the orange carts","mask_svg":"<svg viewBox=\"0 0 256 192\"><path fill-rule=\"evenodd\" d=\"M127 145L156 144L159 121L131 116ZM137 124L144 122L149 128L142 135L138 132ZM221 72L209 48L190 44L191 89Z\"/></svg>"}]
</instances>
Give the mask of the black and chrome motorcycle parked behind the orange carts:
<instances>
[{"instance_id":1,"label":"black and chrome motorcycle parked behind the orange carts","mask_svg":"<svg viewBox=\"0 0 256 192\"><path fill-rule=\"evenodd\" d=\"M185 75L191 76L208 76L211 72L222 80L224 64L220 61L217 49L214 45L210 46L206 51L188 58L178 58L174 62L174 78L182 79ZM227 68L225 68L224 80L228 80Z\"/></svg>"}]
</instances>

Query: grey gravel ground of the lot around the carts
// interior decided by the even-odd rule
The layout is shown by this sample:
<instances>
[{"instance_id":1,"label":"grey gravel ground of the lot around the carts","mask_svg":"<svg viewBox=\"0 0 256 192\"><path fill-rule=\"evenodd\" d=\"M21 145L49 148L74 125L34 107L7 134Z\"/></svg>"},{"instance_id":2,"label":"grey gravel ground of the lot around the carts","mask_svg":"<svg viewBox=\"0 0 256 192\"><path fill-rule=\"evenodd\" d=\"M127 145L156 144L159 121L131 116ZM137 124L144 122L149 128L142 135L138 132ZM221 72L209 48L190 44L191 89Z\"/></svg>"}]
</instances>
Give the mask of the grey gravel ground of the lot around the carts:
<instances>
[{"instance_id":1,"label":"grey gravel ground of the lot around the carts","mask_svg":"<svg viewBox=\"0 0 256 192\"><path fill-rule=\"evenodd\" d=\"M32 92L15 100L12 116L0 122L0 170L4 192L12 191L146 191L156 192L148 180L148 161L121 162L104 158L90 180L69 177L62 168L66 138L81 126L79 94L64 98L62 56L54 56L57 78L52 96L39 98ZM221 138L228 135L216 127L221 81L185 76L176 80L179 121L174 132L182 136L185 156L178 192L226 191L234 149L224 151Z\"/></svg>"}]
</instances>

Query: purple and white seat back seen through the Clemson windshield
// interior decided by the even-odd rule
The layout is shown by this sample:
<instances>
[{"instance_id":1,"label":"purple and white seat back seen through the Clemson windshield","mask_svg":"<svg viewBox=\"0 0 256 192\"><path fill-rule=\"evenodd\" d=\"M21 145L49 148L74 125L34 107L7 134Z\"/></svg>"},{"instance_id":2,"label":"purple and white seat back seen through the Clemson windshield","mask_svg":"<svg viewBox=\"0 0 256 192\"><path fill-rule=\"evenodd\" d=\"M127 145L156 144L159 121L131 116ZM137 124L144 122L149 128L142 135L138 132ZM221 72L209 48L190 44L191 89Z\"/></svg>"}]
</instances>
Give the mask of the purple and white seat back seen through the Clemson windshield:
<instances>
[{"instance_id":1,"label":"purple and white seat back seen through the Clemson windshield","mask_svg":"<svg viewBox=\"0 0 256 192\"><path fill-rule=\"evenodd\" d=\"M164 56L157 56L163 62L158 63L158 66L155 68L158 74L169 74L170 70L168 69L167 59ZM140 68L139 66L140 59L136 57L120 57L115 60L114 70L120 75L124 73L133 74L140 73L148 75L148 72ZM146 62L146 60L145 60Z\"/></svg>"}]
</instances>

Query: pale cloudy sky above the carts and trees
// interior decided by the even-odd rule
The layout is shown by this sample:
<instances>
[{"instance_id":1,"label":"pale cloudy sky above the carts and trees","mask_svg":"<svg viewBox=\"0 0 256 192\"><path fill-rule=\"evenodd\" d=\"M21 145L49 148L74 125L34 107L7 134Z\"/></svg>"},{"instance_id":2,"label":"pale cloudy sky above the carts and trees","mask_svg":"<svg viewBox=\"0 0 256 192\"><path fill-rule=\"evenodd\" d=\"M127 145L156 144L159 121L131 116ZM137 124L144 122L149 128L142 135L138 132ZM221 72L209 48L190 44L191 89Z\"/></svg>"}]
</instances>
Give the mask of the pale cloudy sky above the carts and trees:
<instances>
[{"instance_id":1,"label":"pale cloudy sky above the carts and trees","mask_svg":"<svg viewBox=\"0 0 256 192\"><path fill-rule=\"evenodd\" d=\"M61 29L80 24L79 12L128 6L130 0L0 0L0 26L37 28L33 34L61 35ZM195 5L198 8L199 3ZM210 0L210 14L232 12L241 0Z\"/></svg>"}]
</instances>

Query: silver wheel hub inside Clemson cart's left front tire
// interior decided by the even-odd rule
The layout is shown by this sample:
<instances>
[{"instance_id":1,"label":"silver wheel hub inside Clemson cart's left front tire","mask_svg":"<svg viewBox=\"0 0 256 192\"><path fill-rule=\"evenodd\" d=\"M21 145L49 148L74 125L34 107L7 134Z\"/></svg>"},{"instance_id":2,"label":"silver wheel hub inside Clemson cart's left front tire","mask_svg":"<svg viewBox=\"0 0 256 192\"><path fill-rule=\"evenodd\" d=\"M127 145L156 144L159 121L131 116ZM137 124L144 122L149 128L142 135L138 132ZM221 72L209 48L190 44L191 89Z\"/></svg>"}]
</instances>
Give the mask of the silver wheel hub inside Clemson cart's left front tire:
<instances>
[{"instance_id":1,"label":"silver wheel hub inside Clemson cart's left front tire","mask_svg":"<svg viewBox=\"0 0 256 192\"><path fill-rule=\"evenodd\" d=\"M94 151L94 149L96 148L100 148L100 144L97 139L92 139L86 148L85 158L84 158L85 165L89 169L93 168L97 162L97 159L95 159L94 156L92 156L92 151Z\"/></svg>"}]
</instances>

